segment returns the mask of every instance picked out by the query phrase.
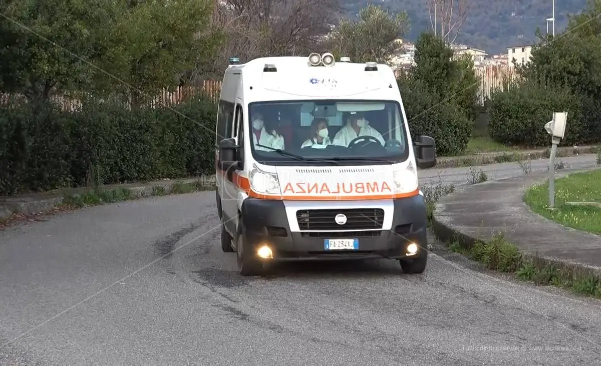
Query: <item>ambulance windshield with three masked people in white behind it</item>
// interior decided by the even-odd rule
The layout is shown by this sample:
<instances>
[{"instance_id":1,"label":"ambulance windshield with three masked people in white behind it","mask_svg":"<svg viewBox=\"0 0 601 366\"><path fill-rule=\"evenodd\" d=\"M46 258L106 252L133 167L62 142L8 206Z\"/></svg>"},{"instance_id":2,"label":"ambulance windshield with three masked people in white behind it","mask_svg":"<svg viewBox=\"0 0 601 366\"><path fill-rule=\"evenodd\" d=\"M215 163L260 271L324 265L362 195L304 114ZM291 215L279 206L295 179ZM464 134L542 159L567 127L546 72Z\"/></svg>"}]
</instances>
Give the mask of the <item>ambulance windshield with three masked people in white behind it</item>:
<instances>
[{"instance_id":1,"label":"ambulance windshield with three masked people in white behind it","mask_svg":"<svg viewBox=\"0 0 601 366\"><path fill-rule=\"evenodd\" d=\"M335 160L392 163L409 157L400 105L394 101L302 100L248 106L251 150L267 165Z\"/></svg>"}]
</instances>

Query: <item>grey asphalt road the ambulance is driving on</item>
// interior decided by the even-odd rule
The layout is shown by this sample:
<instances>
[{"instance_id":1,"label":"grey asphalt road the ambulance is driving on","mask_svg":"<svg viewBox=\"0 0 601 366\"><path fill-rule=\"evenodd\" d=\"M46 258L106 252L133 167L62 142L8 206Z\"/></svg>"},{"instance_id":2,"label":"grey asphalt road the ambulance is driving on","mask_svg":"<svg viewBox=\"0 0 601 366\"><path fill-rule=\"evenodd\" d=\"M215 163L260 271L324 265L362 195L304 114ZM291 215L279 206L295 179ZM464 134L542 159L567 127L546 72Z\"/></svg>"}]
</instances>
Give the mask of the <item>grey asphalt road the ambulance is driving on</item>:
<instances>
[{"instance_id":1,"label":"grey asphalt road the ambulance is driving on","mask_svg":"<svg viewBox=\"0 0 601 366\"><path fill-rule=\"evenodd\" d=\"M516 163L483 169L522 174ZM440 177L460 185L468 173ZM500 278L437 243L423 275L381 260L242 278L219 246L214 192L45 220L0 232L0 364L601 362L599 301Z\"/></svg>"}]
</instances>

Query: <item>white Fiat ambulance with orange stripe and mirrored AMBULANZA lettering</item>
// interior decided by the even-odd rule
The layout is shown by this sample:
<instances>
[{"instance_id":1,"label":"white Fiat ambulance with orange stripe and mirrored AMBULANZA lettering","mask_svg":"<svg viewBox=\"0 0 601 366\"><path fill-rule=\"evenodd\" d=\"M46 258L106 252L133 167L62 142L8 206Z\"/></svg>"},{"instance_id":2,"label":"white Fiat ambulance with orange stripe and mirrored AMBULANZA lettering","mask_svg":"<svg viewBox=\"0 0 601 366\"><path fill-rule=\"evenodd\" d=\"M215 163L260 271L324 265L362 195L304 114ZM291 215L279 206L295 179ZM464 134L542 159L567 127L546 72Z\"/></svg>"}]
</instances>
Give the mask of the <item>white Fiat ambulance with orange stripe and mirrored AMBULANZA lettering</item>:
<instances>
[{"instance_id":1,"label":"white Fiat ambulance with orange stripe and mirrored AMBULANZA lettering","mask_svg":"<svg viewBox=\"0 0 601 366\"><path fill-rule=\"evenodd\" d=\"M331 53L257 58L225 72L215 167L221 245L242 275L275 261L391 258L426 269L413 140L392 69Z\"/></svg>"}]
</instances>

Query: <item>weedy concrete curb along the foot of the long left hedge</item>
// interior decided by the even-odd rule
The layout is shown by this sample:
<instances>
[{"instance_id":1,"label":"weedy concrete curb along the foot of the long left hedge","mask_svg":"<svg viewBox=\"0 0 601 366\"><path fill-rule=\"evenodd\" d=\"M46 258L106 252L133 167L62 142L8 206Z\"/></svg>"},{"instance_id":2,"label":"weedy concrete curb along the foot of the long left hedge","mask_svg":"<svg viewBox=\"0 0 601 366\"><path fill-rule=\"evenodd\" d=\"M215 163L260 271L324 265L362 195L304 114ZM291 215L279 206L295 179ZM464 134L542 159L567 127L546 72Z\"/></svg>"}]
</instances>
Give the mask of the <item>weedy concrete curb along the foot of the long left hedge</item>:
<instances>
[{"instance_id":1,"label":"weedy concrete curb along the foot of the long left hedge","mask_svg":"<svg viewBox=\"0 0 601 366\"><path fill-rule=\"evenodd\" d=\"M107 185L99 188L77 188L72 192L47 192L35 194L33 197L27 195L8 197L0 201L0 220L8 220L15 215L43 215L52 213L64 202L67 197L81 197L97 191L117 191L127 189L133 196L133 200L151 196L169 195L174 193L174 188L182 184L195 184L196 191L209 191L215 188L215 175L198 178L186 178L175 180L153 181L149 183L129 183L124 185ZM160 194L159 194L160 193ZM46 196L46 197L44 197Z\"/></svg>"}]
</instances>

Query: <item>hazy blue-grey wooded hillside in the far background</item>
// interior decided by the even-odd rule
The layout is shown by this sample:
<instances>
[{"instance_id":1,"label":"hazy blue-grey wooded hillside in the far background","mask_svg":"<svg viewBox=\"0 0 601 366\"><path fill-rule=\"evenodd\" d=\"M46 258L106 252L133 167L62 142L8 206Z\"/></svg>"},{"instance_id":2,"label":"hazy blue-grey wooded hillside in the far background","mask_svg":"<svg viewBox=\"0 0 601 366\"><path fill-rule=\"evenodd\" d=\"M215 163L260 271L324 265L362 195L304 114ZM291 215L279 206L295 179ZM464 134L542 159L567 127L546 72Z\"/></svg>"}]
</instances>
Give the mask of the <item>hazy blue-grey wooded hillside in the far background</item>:
<instances>
[{"instance_id":1,"label":"hazy blue-grey wooded hillside in the far background","mask_svg":"<svg viewBox=\"0 0 601 366\"><path fill-rule=\"evenodd\" d=\"M531 44L537 40L536 28L546 32L546 19L552 16L551 0L464 0L468 7L457 42L485 49L488 53L507 52L508 46ZM409 40L432 29L427 3L432 0L341 0L344 13L356 17L367 4L391 11L406 11L411 28ZM455 7L462 0L455 1ZM555 32L563 31L569 14L581 12L587 0L555 1ZM549 23L551 26L551 23Z\"/></svg>"}]
</instances>

